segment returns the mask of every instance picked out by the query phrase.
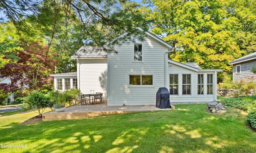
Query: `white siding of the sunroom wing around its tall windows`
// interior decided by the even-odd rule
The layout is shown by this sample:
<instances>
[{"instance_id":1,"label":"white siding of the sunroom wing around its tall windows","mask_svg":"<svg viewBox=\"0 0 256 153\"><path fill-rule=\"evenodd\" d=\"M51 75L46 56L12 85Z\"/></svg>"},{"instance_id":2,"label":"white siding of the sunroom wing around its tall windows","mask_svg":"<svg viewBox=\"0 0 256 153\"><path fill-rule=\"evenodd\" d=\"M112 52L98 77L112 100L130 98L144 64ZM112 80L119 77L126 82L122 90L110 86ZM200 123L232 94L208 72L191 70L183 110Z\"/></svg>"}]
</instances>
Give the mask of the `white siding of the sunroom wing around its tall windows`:
<instances>
[{"instance_id":1,"label":"white siding of the sunroom wing around its tall windows","mask_svg":"<svg viewBox=\"0 0 256 153\"><path fill-rule=\"evenodd\" d=\"M178 74L178 95L170 95L170 102L172 104L175 103L190 103L190 102L211 102L214 101L214 90L216 86L216 77L214 72L208 73L200 73L196 71L192 71L190 69L186 69L184 67L180 67L178 65L172 64L168 68L169 75L170 74ZM182 75L183 74L191 74L191 95L182 95ZM198 95L198 74L204 74L204 94ZM213 94L207 94L207 74L212 74L213 81ZM170 87L169 87L170 89Z\"/></svg>"}]
</instances>

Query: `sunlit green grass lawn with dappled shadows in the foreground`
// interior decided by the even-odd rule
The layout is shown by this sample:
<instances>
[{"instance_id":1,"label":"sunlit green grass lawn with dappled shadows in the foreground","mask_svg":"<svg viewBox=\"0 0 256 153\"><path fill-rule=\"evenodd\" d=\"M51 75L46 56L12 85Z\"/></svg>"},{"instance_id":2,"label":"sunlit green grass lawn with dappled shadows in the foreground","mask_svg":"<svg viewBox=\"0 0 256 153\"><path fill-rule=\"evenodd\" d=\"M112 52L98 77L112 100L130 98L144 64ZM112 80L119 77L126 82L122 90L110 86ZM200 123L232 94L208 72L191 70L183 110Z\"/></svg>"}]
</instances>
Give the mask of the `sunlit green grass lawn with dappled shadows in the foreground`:
<instances>
[{"instance_id":1,"label":"sunlit green grass lawn with dappled shadows in the foreground","mask_svg":"<svg viewBox=\"0 0 256 153\"><path fill-rule=\"evenodd\" d=\"M0 116L1 153L254 153L244 113L208 114L206 104L176 110L18 124L34 112ZM12 147L20 145L21 147ZM23 145L23 147L22 147ZM11 146L11 147L10 147Z\"/></svg>"}]
</instances>

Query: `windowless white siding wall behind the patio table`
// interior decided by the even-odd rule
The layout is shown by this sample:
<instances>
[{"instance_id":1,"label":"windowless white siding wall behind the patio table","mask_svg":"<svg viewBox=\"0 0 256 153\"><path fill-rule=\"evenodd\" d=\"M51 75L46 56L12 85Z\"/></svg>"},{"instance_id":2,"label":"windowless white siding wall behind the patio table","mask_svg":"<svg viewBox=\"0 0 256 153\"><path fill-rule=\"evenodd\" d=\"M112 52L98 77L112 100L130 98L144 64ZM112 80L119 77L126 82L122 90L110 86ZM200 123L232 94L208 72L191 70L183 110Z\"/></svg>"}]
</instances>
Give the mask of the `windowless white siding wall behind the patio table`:
<instances>
[{"instance_id":1,"label":"windowless white siding wall behind the patio table","mask_svg":"<svg viewBox=\"0 0 256 153\"><path fill-rule=\"evenodd\" d=\"M104 100L106 100L108 74L107 59L83 59L78 63L80 69L79 83L81 92L83 94L102 92Z\"/></svg>"}]
</instances>

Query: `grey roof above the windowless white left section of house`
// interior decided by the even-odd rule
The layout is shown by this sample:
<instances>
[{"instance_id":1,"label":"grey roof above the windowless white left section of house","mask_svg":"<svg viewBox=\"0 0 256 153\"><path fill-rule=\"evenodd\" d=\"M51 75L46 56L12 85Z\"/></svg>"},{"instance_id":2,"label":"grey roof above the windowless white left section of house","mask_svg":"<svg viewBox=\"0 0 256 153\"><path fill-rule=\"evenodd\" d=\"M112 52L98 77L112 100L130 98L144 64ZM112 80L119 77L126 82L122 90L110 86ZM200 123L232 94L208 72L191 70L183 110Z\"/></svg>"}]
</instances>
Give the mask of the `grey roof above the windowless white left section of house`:
<instances>
[{"instance_id":1,"label":"grey roof above the windowless white left section of house","mask_svg":"<svg viewBox=\"0 0 256 153\"><path fill-rule=\"evenodd\" d=\"M104 51L103 47L98 46L82 46L74 55L72 55L71 59L78 58L105 58L108 53Z\"/></svg>"}]
</instances>

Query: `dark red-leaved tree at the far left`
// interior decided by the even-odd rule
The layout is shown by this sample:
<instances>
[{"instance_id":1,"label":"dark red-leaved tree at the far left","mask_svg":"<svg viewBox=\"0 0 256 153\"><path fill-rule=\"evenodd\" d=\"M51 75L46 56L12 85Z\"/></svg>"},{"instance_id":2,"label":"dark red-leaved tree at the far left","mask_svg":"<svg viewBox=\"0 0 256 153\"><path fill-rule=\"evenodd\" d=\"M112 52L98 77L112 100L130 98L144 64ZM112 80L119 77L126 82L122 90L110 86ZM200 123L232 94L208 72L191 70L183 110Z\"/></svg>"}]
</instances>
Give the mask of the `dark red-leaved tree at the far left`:
<instances>
[{"instance_id":1,"label":"dark red-leaved tree at the far left","mask_svg":"<svg viewBox=\"0 0 256 153\"><path fill-rule=\"evenodd\" d=\"M11 84L5 86L10 91L19 90L23 85L29 86L30 90L49 90L52 85L52 78L49 75L54 73L54 66L58 62L54 59L54 54L48 47L38 42L28 45L23 41L20 47L21 50L14 51L18 60L12 59L0 69L2 77L11 80Z\"/></svg>"}]
</instances>

